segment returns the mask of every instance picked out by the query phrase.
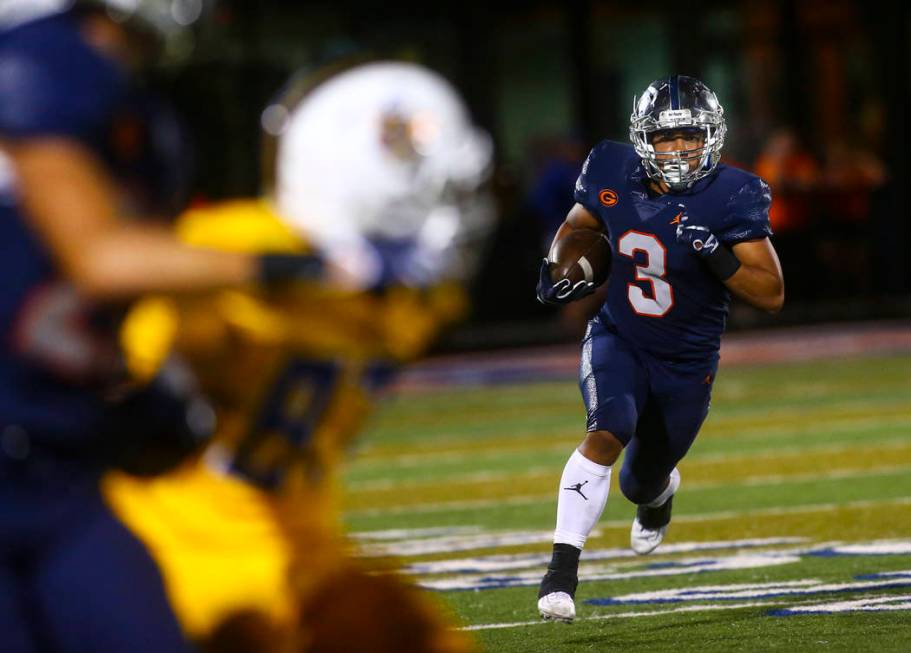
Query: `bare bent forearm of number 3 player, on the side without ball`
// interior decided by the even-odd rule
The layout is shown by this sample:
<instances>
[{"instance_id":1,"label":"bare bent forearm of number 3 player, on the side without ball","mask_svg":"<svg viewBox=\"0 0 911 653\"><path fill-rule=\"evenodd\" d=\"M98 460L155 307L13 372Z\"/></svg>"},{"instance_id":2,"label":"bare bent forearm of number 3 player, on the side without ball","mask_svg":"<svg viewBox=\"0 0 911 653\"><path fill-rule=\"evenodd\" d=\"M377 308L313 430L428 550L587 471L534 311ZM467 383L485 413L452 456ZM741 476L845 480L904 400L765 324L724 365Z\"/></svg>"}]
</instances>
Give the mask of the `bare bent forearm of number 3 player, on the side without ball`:
<instances>
[{"instance_id":1,"label":"bare bent forearm of number 3 player, on the side without ball","mask_svg":"<svg viewBox=\"0 0 911 653\"><path fill-rule=\"evenodd\" d=\"M748 304L769 313L784 305L784 277L778 254L768 238L737 243L731 252L740 267L724 285Z\"/></svg>"}]
</instances>

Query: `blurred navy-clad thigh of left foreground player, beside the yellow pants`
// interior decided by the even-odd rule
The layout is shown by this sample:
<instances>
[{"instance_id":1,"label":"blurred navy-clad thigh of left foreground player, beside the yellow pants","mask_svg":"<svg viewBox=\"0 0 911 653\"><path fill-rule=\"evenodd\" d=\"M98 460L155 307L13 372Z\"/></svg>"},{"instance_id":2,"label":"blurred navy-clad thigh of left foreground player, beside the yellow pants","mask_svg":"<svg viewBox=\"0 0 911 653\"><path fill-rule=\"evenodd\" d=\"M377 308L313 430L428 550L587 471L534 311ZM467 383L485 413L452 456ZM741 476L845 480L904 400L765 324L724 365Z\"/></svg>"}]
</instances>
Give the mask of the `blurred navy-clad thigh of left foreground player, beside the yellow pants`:
<instances>
[{"instance_id":1,"label":"blurred navy-clad thigh of left foreground player, beside the yellow pants","mask_svg":"<svg viewBox=\"0 0 911 653\"><path fill-rule=\"evenodd\" d=\"M96 499L34 579L50 647L61 653L190 650L143 545Z\"/></svg>"}]
</instances>

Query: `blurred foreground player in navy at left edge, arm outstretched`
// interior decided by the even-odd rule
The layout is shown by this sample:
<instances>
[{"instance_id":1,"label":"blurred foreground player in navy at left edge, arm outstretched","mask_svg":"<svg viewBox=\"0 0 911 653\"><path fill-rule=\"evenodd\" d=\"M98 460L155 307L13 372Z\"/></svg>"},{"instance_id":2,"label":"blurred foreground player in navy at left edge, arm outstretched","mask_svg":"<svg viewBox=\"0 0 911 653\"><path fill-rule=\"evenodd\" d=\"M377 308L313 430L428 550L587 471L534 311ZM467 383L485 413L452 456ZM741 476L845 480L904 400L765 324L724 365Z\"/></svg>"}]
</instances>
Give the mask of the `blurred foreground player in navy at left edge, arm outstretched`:
<instances>
[{"instance_id":1,"label":"blurred foreground player in navy at left edge, arm outstretched","mask_svg":"<svg viewBox=\"0 0 911 653\"><path fill-rule=\"evenodd\" d=\"M195 443L212 414L179 366L137 388L117 342L122 304L319 275L313 256L180 243L128 221L119 119L156 35L200 2L0 3L0 647L182 651L161 578L101 501L109 451ZM134 114L135 115L135 114ZM124 182L126 183L126 182ZM129 184L128 184L129 185ZM129 447L128 447L129 448Z\"/></svg>"}]
</instances>

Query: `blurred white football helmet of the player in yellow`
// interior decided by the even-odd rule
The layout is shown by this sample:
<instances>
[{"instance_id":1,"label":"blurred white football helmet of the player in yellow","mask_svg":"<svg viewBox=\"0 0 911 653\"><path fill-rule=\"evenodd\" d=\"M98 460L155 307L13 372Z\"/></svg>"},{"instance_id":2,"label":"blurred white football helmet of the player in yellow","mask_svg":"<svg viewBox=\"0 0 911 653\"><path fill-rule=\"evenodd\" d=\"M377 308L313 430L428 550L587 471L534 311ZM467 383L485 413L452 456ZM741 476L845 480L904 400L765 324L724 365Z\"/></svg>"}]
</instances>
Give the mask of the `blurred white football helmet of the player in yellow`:
<instances>
[{"instance_id":1,"label":"blurred white football helmet of the player in yellow","mask_svg":"<svg viewBox=\"0 0 911 653\"><path fill-rule=\"evenodd\" d=\"M478 192L491 140L455 89L422 66L380 62L300 95L263 112L276 140L267 191L278 213L324 250L410 240L416 276L451 273L431 268L455 264L444 266L445 253L491 212Z\"/></svg>"}]
</instances>

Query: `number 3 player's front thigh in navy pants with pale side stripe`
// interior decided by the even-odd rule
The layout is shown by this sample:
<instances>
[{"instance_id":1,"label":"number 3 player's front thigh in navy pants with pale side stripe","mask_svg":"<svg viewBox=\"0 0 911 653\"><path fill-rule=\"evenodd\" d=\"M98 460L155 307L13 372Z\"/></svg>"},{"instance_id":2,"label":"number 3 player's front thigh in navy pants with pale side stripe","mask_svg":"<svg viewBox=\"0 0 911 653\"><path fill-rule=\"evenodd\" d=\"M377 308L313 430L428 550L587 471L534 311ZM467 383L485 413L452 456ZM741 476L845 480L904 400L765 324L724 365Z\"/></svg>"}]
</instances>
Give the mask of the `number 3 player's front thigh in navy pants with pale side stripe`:
<instances>
[{"instance_id":1,"label":"number 3 player's front thigh in navy pants with pale side stripe","mask_svg":"<svg viewBox=\"0 0 911 653\"><path fill-rule=\"evenodd\" d=\"M609 431L626 444L632 438L647 394L638 355L597 321L582 341L579 387L587 412L586 431Z\"/></svg>"}]
</instances>

